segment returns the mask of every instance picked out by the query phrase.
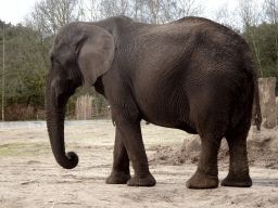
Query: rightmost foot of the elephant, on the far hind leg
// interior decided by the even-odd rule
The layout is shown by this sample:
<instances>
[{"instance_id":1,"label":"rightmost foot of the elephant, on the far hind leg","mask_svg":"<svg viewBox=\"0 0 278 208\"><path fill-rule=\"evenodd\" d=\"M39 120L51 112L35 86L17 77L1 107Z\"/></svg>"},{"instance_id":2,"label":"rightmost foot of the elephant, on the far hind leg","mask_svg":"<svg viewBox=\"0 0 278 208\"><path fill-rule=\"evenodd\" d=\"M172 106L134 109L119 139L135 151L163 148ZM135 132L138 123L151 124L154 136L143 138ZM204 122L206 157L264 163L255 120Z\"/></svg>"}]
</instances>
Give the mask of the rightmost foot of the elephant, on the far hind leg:
<instances>
[{"instance_id":1,"label":"rightmost foot of the elephant, on the far hind leg","mask_svg":"<svg viewBox=\"0 0 278 208\"><path fill-rule=\"evenodd\" d=\"M242 176L228 174L228 177L222 181L222 185L237 186L237 187L251 187L252 180L249 176L242 177Z\"/></svg>"}]
</instances>

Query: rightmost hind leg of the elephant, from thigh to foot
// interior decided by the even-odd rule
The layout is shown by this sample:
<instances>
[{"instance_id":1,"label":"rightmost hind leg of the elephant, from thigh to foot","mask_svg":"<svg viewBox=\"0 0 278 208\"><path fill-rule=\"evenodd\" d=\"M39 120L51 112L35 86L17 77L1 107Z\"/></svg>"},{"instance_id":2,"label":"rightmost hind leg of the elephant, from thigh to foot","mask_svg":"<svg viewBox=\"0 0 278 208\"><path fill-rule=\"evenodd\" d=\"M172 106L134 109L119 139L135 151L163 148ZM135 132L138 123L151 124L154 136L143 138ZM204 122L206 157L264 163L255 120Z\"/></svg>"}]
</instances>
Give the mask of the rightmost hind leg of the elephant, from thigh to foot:
<instances>
[{"instance_id":1,"label":"rightmost hind leg of the elephant, from thigh to foot","mask_svg":"<svg viewBox=\"0 0 278 208\"><path fill-rule=\"evenodd\" d=\"M252 180L249 176L247 153L247 136L250 122L239 123L238 129L226 135L229 144L230 166L227 178L222 181L224 186L250 187Z\"/></svg>"}]
</instances>

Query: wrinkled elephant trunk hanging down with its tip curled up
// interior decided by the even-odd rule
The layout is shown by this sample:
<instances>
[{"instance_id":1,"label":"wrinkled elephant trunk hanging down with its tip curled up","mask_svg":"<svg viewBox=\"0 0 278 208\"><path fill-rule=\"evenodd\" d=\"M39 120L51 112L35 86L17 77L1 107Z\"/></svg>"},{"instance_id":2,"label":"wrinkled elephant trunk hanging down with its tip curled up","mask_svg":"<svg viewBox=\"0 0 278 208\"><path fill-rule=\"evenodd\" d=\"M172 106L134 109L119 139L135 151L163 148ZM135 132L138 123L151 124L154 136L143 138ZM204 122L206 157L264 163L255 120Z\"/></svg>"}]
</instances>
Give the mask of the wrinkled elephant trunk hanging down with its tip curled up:
<instances>
[{"instance_id":1,"label":"wrinkled elephant trunk hanging down with its tip curled up","mask_svg":"<svg viewBox=\"0 0 278 208\"><path fill-rule=\"evenodd\" d=\"M64 144L64 119L68 96L56 96L51 83L47 82L46 88L46 110L47 127L53 155L60 166L66 169L75 168L78 164L78 156L74 152L65 155Z\"/></svg>"}]
</instances>

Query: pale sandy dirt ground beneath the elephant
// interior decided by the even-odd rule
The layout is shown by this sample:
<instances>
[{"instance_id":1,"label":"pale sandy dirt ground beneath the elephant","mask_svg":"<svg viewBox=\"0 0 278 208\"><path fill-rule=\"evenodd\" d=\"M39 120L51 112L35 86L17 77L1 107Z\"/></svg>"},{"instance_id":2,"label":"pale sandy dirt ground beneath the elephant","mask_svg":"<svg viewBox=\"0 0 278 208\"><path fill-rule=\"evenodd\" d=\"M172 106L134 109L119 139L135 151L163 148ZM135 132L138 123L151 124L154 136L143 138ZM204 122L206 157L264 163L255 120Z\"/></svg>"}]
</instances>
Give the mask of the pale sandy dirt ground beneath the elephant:
<instances>
[{"instance_id":1,"label":"pale sandy dirt ground beneath the elephant","mask_svg":"<svg viewBox=\"0 0 278 208\"><path fill-rule=\"evenodd\" d=\"M111 122L66 127L66 151L78 154L79 165L65 170L53 158L46 128L0 129L0 207L278 207L278 129L250 133L252 187L214 190L186 187L199 159L198 144L192 143L197 138L144 123L142 134L156 185L105 184L114 131ZM224 141L219 180L227 171Z\"/></svg>"}]
</instances>

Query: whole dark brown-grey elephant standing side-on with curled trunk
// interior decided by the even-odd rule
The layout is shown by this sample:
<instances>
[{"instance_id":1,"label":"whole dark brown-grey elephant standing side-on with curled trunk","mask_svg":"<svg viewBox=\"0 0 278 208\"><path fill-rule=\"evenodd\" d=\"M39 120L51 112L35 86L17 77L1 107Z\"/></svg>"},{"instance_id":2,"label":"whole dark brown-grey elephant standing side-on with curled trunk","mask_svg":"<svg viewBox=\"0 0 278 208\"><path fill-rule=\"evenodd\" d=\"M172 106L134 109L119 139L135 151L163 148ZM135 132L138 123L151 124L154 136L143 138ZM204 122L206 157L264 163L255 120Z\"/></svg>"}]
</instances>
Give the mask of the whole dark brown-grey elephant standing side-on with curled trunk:
<instances>
[{"instance_id":1,"label":"whole dark brown-grey elephant standing side-on with curled trunk","mask_svg":"<svg viewBox=\"0 0 278 208\"><path fill-rule=\"evenodd\" d=\"M164 25L126 16L73 22L56 32L46 81L47 127L55 160L75 168L65 152L66 104L78 87L94 87L109 102L115 125L108 184L153 186L140 121L201 138L201 155L189 188L219 184L217 154L223 138L230 161L224 186L250 187L247 136L253 103L261 127L257 68L253 53L233 30L202 17ZM130 167L134 176L130 174Z\"/></svg>"}]
</instances>

